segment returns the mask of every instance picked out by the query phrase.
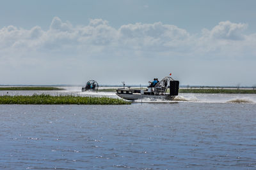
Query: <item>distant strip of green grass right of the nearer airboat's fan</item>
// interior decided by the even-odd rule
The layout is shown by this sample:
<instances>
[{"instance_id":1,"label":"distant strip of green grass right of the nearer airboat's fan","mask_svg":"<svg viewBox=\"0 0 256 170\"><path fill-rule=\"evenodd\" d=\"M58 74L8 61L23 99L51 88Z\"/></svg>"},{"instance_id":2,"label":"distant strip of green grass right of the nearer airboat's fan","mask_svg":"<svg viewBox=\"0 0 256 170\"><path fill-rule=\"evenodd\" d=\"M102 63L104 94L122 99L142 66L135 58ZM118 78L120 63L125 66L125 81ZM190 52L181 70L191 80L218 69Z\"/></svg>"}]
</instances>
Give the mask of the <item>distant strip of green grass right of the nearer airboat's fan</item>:
<instances>
[{"instance_id":1,"label":"distant strip of green grass right of the nearer airboat's fan","mask_svg":"<svg viewBox=\"0 0 256 170\"><path fill-rule=\"evenodd\" d=\"M256 94L256 90L249 90L249 89L179 89L179 93Z\"/></svg>"}]
</instances>

